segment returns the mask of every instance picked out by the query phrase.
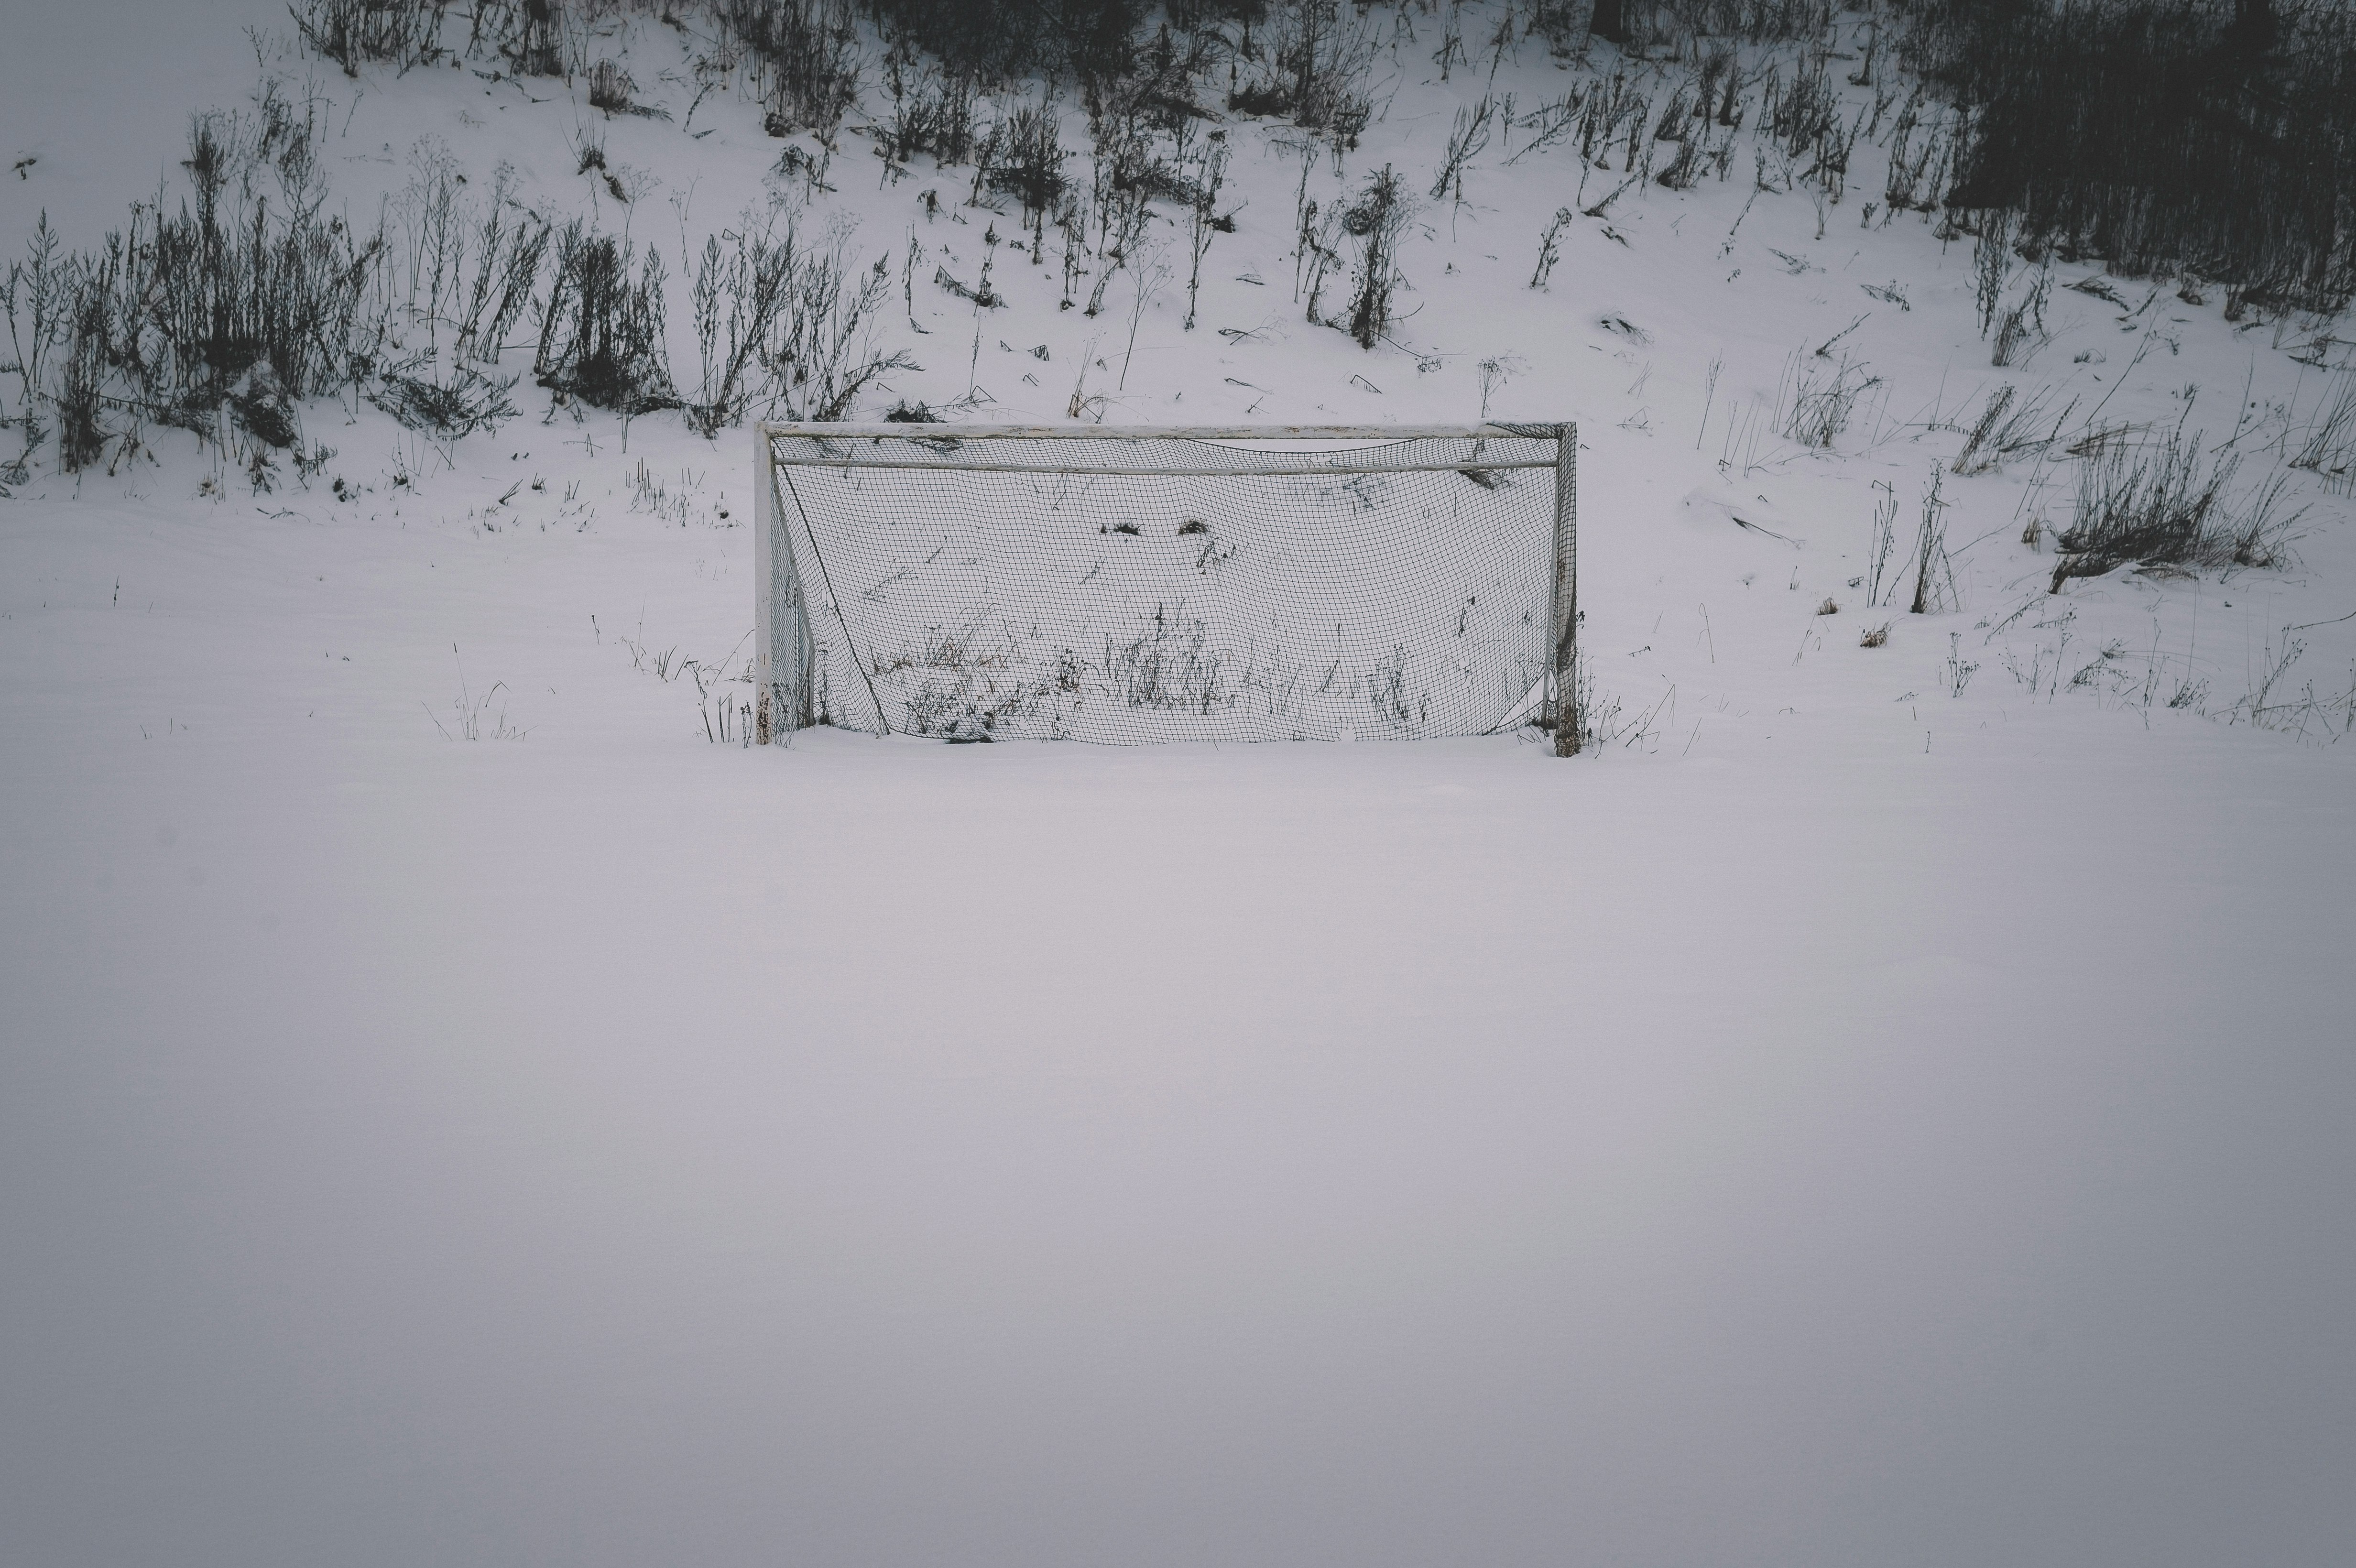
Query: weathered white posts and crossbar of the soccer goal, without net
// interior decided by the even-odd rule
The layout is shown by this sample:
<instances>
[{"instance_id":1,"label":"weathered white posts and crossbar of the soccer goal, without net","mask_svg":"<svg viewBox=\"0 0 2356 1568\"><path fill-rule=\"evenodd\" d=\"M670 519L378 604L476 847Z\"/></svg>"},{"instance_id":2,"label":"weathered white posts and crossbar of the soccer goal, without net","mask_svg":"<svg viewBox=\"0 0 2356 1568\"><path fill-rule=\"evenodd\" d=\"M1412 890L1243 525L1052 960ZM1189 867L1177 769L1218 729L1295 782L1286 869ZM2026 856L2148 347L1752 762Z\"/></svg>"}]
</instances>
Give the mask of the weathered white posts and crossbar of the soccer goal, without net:
<instances>
[{"instance_id":1,"label":"weathered white posts and crossbar of the soccer goal, without net","mask_svg":"<svg viewBox=\"0 0 2356 1568\"><path fill-rule=\"evenodd\" d=\"M820 457L777 457L777 436L820 438L834 450ZM810 723L810 600L796 567L794 539L777 511L777 464L820 469L959 469L973 473L1114 473L1114 476L1293 476L1291 466L1121 469L1065 464L992 464L945 457L942 443L975 440L1553 440L1553 459L1414 464L1430 469L1553 469L1555 471L1555 570L1553 570L1553 666L1541 702L1543 723L1555 730L1555 756L1579 751L1579 426L1576 424L759 424L754 428L754 739L768 746ZM860 454L858 443L928 440L935 457L912 464L891 452ZM1322 473L1399 473L1399 464L1319 464Z\"/></svg>"}]
</instances>

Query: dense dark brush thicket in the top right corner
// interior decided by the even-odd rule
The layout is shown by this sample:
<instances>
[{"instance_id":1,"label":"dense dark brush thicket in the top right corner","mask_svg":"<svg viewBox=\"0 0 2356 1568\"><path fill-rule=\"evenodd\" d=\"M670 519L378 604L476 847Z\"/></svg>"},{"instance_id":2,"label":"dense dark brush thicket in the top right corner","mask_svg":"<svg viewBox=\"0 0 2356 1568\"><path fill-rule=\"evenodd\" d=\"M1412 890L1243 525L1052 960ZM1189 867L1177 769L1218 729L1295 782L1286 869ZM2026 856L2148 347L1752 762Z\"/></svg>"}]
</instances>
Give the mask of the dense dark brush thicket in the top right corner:
<instances>
[{"instance_id":1,"label":"dense dark brush thicket in the top right corner","mask_svg":"<svg viewBox=\"0 0 2356 1568\"><path fill-rule=\"evenodd\" d=\"M1948 207L2024 254L2245 308L2356 299L2356 24L2337 2L1908 0L1906 59L1970 111Z\"/></svg>"}]
</instances>

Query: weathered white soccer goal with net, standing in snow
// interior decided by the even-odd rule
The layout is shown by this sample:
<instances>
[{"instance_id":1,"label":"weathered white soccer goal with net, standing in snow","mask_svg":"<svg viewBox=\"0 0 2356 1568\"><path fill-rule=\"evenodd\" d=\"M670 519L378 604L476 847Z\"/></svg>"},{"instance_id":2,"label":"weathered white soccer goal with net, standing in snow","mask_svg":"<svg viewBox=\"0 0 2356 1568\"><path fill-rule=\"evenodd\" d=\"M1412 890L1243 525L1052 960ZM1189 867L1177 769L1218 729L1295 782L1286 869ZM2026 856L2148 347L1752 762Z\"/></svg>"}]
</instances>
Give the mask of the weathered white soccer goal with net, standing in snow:
<instances>
[{"instance_id":1,"label":"weathered white soccer goal with net, standing in snow","mask_svg":"<svg viewBox=\"0 0 2356 1568\"><path fill-rule=\"evenodd\" d=\"M1409 739L1553 727L1576 428L759 428L754 735Z\"/></svg>"}]
</instances>

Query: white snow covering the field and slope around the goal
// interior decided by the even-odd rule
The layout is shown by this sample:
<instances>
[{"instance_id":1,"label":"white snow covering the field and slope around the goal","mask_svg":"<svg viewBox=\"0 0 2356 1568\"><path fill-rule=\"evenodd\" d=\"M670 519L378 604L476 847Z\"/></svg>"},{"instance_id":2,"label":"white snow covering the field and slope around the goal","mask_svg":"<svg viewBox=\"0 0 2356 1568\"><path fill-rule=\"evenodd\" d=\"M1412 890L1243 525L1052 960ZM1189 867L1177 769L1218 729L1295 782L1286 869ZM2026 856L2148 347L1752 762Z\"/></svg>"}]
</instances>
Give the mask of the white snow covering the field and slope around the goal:
<instances>
[{"instance_id":1,"label":"white snow covering the field and slope around the goal","mask_svg":"<svg viewBox=\"0 0 2356 1568\"><path fill-rule=\"evenodd\" d=\"M285 16L12 24L0 242L177 177L240 24ZM657 181L605 221L683 250L780 144L735 94L690 139L688 42L624 45L674 122L262 54L353 212L438 137L584 214L594 129ZM1531 290L1579 160L1421 200L1489 85L1432 45L1315 172L1416 188L1376 353L1291 301L1268 122L1126 386L1126 275L1091 320L999 252L978 339L926 283L968 177L926 221L846 134L818 210L924 247L886 405L1063 417L1105 358L1124 421L1579 419L1590 758L716 744L749 433L528 379L448 454L313 405L337 457L266 494L177 431L9 485L0 1561L2344 1559L2356 549L2281 464L2344 344L2080 264L1993 370L1972 242L1861 224L1878 162L1821 231L1743 162L1647 184ZM1875 384L1795 445L1840 353ZM1955 607L1868 603L1875 480L1904 558L2007 381L2255 431L2295 560L2047 593L2080 464L2021 459L1941 478Z\"/></svg>"}]
</instances>

